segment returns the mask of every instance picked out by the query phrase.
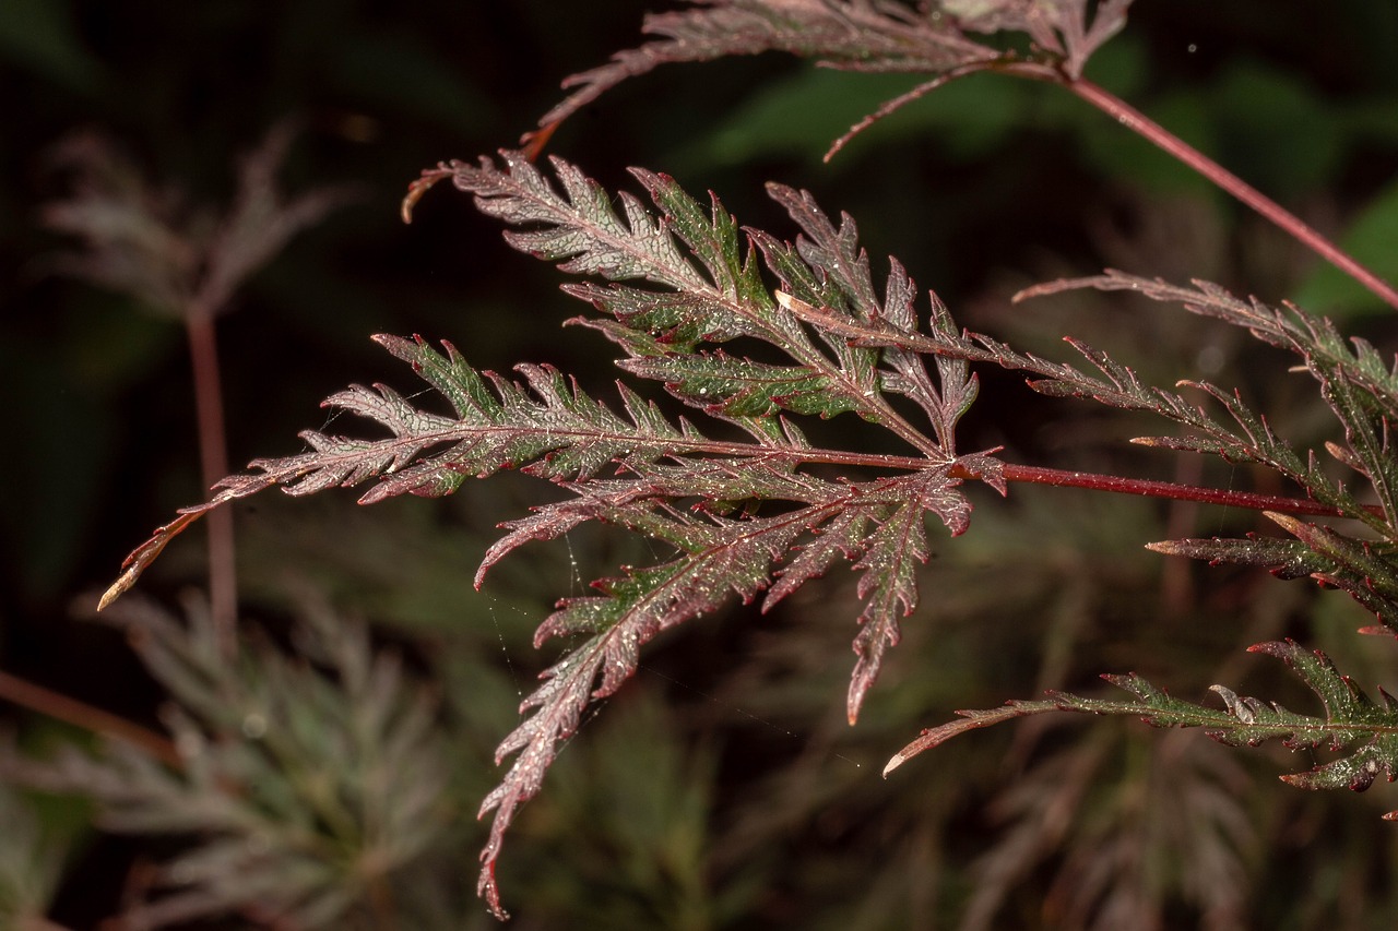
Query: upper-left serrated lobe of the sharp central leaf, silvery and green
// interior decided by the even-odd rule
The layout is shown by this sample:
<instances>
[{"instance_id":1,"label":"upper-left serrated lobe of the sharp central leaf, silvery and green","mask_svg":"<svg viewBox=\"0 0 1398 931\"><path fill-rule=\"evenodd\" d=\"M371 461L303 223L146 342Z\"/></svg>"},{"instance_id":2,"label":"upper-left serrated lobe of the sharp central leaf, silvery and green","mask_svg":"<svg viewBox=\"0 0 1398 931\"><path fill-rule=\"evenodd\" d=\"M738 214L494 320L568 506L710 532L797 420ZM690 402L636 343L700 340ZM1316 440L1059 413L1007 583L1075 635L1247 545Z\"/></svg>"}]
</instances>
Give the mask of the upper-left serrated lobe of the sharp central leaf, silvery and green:
<instances>
[{"instance_id":1,"label":"upper-left serrated lobe of the sharp central leaf, silvery and green","mask_svg":"<svg viewBox=\"0 0 1398 931\"><path fill-rule=\"evenodd\" d=\"M499 171L488 159L478 165L452 162L449 169L442 171L450 173L459 189L474 193L482 210L516 228L506 233L516 247L542 259L563 260L561 268L565 271L597 274L612 281L640 280L661 289L622 284L569 288L570 294L612 315L611 320L583 323L601 330L633 359L642 359L626 362L625 368L681 387L685 379L674 377L675 368L702 366L710 377L721 379L719 369L723 366L712 365L713 359L721 358L728 359L728 377L747 382L752 376L752 363L713 354L699 356L695 347L700 341L723 342L738 335L752 337L772 344L808 370L808 376L802 376L802 384L787 393L780 387L773 393L759 391L759 396L766 394L768 401L798 412L832 415L853 411L891 426L916 449L937 449L935 443L882 398L878 352L854 348L843 338L826 337L823 341L836 356L832 363L829 354L811 341L800 320L777 306L762 281L751 250L745 250L740 242L735 221L717 199L710 197L705 208L681 190L674 179L635 169L632 173L646 187L660 215L653 218L642 210L640 201L624 197L624 219L617 215L610 197L596 182L562 159L554 159L563 187L561 194L519 154L505 152L503 157L505 171ZM797 217L798 221L818 222L821 212L809 194L788 192L787 197L793 204L802 204L804 214ZM816 249L809 257L802 257L801 245L790 247L756 231L749 231L749 236L758 240L768 264L783 280L829 280L837 284L840 275L846 274L840 271L842 257L863 254L856 242L854 224L847 218L837 233L842 249L837 256L826 256ZM828 264L822 264L826 261ZM863 273L854 270L851 274L863 274L867 282L867 267ZM856 280L850 278L849 282ZM812 288L802 289L802 294L814 296L819 285ZM868 291L868 287L864 289ZM684 355L692 358L671 358ZM907 379L898 379L898 383L902 387ZM755 401L758 407L751 407L752 398L744 394L730 407L727 403L716 403L731 398L727 393L716 400L698 390L691 393L681 389L675 393L709 414L740 422L759 439L773 436L769 424L742 419L770 412L770 404L763 404L759 398ZM742 393L741 389L738 393ZM960 389L956 394L963 397ZM791 403L783 403L783 397Z\"/></svg>"}]
</instances>

